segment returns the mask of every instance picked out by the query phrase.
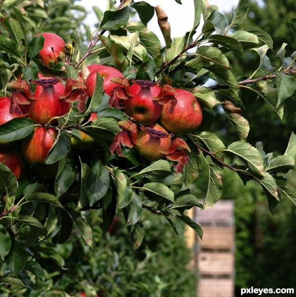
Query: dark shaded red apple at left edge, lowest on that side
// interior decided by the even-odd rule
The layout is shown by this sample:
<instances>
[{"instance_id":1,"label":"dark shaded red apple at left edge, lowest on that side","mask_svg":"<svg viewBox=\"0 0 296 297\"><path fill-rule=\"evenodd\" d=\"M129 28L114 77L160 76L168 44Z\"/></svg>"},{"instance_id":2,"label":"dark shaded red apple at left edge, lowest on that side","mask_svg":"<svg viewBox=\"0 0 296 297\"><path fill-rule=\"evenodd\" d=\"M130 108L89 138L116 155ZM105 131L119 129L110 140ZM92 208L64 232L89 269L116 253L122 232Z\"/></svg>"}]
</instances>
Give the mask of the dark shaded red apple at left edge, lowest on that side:
<instances>
[{"instance_id":1,"label":"dark shaded red apple at left edge, lowest on that side","mask_svg":"<svg viewBox=\"0 0 296 297\"><path fill-rule=\"evenodd\" d=\"M17 147L0 147L0 162L10 168L16 179L27 171L25 159Z\"/></svg>"}]
</instances>

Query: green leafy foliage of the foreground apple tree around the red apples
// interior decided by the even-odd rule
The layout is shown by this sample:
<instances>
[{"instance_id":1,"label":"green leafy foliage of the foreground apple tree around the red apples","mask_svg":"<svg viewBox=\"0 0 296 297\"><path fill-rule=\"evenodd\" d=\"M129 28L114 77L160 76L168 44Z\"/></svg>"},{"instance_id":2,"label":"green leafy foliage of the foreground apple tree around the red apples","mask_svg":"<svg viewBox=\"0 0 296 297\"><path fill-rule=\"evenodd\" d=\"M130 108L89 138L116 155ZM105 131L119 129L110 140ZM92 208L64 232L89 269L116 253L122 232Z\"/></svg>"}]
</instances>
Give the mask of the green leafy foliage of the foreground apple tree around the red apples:
<instances>
[{"instance_id":1,"label":"green leafy foliage of the foreground apple tree around the red apples","mask_svg":"<svg viewBox=\"0 0 296 297\"><path fill-rule=\"evenodd\" d=\"M182 1L175 1L182 5ZM125 157L114 156L110 146L121 131L118 122L127 120L127 116L122 109L108 105L109 96L103 92L102 78L97 75L95 92L82 112L73 104L57 124L44 125L58 131L46 159L48 165L58 162L55 178L46 179L30 168L25 178L17 181L10 169L0 164L1 282L9 288L23 288L33 286L36 278L44 281L45 272L38 259L46 257L63 267L65 262L56 246L71 240L73 232L79 233L84 244L94 251L96 242L87 223L91 209L100 210L103 236L115 212L122 213L131 252L144 238L144 212L164 216L179 237L184 235L186 225L202 237L202 229L186 215L186 210L196 206L205 209L220 199L225 167L236 172L245 184L257 182L266 194L271 212L280 199L296 204L296 189L285 177L295 168L295 133L287 139L285 152L273 155L264 151L260 139L248 142L252 130L244 118L257 100L272 107L279 120L295 115L296 53L286 57L285 46L273 49L272 37L264 28L248 26L236 30L248 17L249 0L240 0L230 19L206 0L192 0L192 29L176 38L171 38L164 11L145 1L121 0L114 9L104 12L93 34L88 32L90 41L72 26L74 18L67 14L66 5L71 1L62 1L64 6L57 6L57 2L61 4L38 0L35 6L29 3L26 8L19 1L2 1L1 96L11 95L9 83L16 78L29 81L37 79L41 72L78 79L83 67L99 63L117 68L128 79L160 81L189 90L202 105L203 122L195 132L178 135L190 148L189 161L181 173L176 173L174 162L148 162L133 148L123 146ZM61 33L64 40L74 42L74 54L71 61L61 59L48 68L38 59L43 39L32 36L40 33L39 22L45 22L44 15L57 12L54 4L56 9L64 7L65 14L51 16L52 23L45 31L59 34L59 26L54 31L56 24L68 24L68 32ZM148 28L155 10L162 40ZM135 14L140 21L131 20ZM296 19L292 18L287 26L296 36ZM272 50L277 51L279 58L276 65L271 65L268 58ZM258 55L259 63L252 73L235 77L227 53L241 57L248 51ZM262 71L264 75L258 76ZM97 120L89 122L93 112ZM211 129L218 113L227 116L237 132L236 141L223 143L217 131ZM0 126L0 141L14 141L18 146L37 126L29 118L15 118ZM93 137L96 145L85 151L73 149L70 134L77 136L77 130ZM207 190L202 197L195 197L190 194L190 185L200 176L207 177ZM199 198L203 199L202 204Z\"/></svg>"}]
</instances>

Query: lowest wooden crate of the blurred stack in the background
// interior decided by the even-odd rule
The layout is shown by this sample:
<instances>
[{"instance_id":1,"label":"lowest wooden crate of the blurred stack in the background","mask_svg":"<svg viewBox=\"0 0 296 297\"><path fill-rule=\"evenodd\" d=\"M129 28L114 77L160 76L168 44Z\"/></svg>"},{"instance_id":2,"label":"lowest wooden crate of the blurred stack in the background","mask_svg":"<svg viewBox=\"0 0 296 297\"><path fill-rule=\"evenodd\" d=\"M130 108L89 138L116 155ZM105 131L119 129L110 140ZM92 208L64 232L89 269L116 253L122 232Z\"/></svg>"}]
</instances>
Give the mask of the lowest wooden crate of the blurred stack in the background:
<instances>
[{"instance_id":1,"label":"lowest wooden crate of the blurred stack in the background","mask_svg":"<svg viewBox=\"0 0 296 297\"><path fill-rule=\"evenodd\" d=\"M233 297L232 278L202 278L197 286L198 297Z\"/></svg>"}]
</instances>

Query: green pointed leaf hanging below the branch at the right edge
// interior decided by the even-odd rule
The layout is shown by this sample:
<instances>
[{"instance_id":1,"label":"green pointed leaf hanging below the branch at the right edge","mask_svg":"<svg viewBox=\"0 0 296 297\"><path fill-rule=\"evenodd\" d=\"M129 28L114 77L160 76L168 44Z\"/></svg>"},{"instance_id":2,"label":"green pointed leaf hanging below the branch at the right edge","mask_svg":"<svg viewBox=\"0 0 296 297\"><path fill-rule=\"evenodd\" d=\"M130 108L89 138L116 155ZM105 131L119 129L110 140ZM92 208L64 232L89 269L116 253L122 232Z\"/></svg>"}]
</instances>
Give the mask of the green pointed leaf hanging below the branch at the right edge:
<instances>
[{"instance_id":1,"label":"green pointed leaf hanging below the branch at the right edge","mask_svg":"<svg viewBox=\"0 0 296 297\"><path fill-rule=\"evenodd\" d=\"M292 96L296 90L296 80L293 76L284 74L276 70L275 81L278 93L278 107L285 99Z\"/></svg>"}]
</instances>

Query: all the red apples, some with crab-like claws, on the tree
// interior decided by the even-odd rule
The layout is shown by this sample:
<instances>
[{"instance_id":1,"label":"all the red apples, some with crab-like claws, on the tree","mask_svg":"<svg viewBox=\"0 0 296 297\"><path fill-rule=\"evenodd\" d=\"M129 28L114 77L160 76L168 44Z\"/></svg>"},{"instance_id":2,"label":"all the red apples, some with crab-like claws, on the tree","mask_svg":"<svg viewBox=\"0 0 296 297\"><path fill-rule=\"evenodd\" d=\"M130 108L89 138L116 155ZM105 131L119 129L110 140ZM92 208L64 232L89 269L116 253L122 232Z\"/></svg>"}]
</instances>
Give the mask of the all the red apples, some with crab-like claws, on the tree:
<instances>
[{"instance_id":1,"label":"all the red apples, some with crab-like claws, on the tree","mask_svg":"<svg viewBox=\"0 0 296 297\"><path fill-rule=\"evenodd\" d=\"M69 59L69 55L73 54L73 47L57 34L42 35L44 44L39 52L42 65L50 69L61 57ZM13 142L0 143L0 162L7 165L17 178L22 176L27 164L47 177L55 176L58 165L45 164L58 136L54 125L58 117L69 112L73 102L78 113L84 111L87 98L94 94L97 73L103 79L103 91L110 97L109 105L120 108L129 119L118 123L122 131L115 135L111 153L116 151L118 156L123 156L123 144L134 147L149 161L163 157L176 161L177 172L181 172L188 161L185 150L190 149L176 135L193 132L201 124L202 110L196 97L189 91L159 82L128 80L114 67L93 64L79 72L79 79L66 80L38 73L37 80L17 79L9 83L13 92L10 97L0 98L0 125L15 117L28 117L38 124L32 137L22 141L21 152ZM32 85L36 85L34 94L31 93ZM94 119L96 113L91 113L88 121ZM78 132L80 139L71 137L74 149L94 145L92 137L80 130Z\"/></svg>"}]
</instances>

